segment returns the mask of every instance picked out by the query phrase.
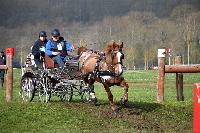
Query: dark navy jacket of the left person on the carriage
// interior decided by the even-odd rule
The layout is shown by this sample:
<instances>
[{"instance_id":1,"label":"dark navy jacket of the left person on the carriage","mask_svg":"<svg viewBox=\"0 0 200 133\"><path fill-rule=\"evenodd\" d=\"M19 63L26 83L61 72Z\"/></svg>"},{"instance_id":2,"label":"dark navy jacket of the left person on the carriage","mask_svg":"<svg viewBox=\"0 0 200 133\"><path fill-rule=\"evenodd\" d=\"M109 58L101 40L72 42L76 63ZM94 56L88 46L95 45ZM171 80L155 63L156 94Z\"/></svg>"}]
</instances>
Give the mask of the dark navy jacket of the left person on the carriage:
<instances>
[{"instance_id":1,"label":"dark navy jacket of the left person on the carriage","mask_svg":"<svg viewBox=\"0 0 200 133\"><path fill-rule=\"evenodd\" d=\"M46 43L47 43L47 39L46 39L44 42L42 42L40 39L38 39L38 40L34 43L34 45L33 45L33 47L32 47L32 54L33 54L33 56L34 56L34 59L40 59L41 54L44 53L43 51L40 51L40 49L41 49L42 47L45 47L45 46L46 46Z\"/></svg>"}]
</instances>

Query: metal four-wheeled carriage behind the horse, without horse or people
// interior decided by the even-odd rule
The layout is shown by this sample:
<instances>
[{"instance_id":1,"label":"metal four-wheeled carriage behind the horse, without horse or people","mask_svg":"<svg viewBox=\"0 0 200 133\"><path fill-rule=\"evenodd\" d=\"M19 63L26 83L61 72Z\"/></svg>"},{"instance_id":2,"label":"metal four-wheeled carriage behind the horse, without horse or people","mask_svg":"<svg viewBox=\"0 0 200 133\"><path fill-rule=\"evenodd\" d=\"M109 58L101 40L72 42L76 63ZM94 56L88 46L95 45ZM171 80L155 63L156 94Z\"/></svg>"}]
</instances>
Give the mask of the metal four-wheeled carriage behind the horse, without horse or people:
<instances>
[{"instance_id":1,"label":"metal four-wheeled carriage behind the horse, without horse or people","mask_svg":"<svg viewBox=\"0 0 200 133\"><path fill-rule=\"evenodd\" d=\"M70 58L64 68L58 68L47 55L40 67L35 66L31 56L26 60L20 85L23 101L32 101L38 96L39 101L48 102L52 96L58 96L61 101L70 102L73 96L80 96L83 102L96 102L96 98L91 98L93 88L81 79L77 59Z\"/></svg>"}]
</instances>

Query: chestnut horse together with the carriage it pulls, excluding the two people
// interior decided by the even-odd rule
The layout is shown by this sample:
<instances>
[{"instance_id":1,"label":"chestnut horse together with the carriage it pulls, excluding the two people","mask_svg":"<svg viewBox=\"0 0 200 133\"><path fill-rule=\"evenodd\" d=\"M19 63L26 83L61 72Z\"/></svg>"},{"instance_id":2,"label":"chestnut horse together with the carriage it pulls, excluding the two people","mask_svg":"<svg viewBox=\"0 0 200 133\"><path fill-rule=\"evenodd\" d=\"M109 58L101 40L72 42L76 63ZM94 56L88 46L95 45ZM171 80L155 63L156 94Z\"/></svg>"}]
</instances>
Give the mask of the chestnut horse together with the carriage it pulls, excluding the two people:
<instances>
[{"instance_id":1,"label":"chestnut horse together with the carriage it pulls, excluding the two people","mask_svg":"<svg viewBox=\"0 0 200 133\"><path fill-rule=\"evenodd\" d=\"M111 109L116 112L109 87L123 87L121 103L124 105L128 101L128 84L122 76L122 48L123 43L116 42L108 43L103 53L79 48L78 58L65 62L63 69L57 68L48 56L44 57L41 68L36 69L29 61L21 79L21 97L24 101L32 101L38 96L40 101L48 102L52 96L58 96L62 101L71 101L73 96L80 96L84 102L96 103L94 82L97 81L103 84Z\"/></svg>"}]
</instances>

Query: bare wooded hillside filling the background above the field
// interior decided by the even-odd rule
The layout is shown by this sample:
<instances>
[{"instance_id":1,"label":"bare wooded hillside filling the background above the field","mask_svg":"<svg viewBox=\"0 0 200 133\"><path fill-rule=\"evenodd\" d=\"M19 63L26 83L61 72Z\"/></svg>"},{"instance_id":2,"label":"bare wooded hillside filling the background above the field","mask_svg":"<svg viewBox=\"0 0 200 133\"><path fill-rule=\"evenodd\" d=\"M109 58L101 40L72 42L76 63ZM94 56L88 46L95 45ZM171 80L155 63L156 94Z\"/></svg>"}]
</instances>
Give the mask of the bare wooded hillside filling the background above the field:
<instances>
[{"instance_id":1,"label":"bare wooded hillside filling the background above the field","mask_svg":"<svg viewBox=\"0 0 200 133\"><path fill-rule=\"evenodd\" d=\"M198 0L1 1L0 46L14 47L19 60L40 30L50 38L58 28L72 44L94 50L103 51L111 40L123 41L128 69L156 65L157 49L166 47L173 51L172 64L177 54L185 64L198 64L199 9Z\"/></svg>"}]
</instances>

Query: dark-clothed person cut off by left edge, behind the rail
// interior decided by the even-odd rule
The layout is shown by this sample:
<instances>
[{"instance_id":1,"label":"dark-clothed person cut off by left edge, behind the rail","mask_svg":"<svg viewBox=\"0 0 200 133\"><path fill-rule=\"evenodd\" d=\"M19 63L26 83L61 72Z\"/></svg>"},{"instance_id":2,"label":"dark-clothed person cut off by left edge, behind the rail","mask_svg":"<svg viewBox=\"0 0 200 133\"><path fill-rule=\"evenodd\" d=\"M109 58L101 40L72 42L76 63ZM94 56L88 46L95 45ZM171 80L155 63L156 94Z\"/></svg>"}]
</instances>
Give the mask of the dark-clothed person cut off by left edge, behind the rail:
<instances>
[{"instance_id":1,"label":"dark-clothed person cut off by left edge, behind the rail","mask_svg":"<svg viewBox=\"0 0 200 133\"><path fill-rule=\"evenodd\" d=\"M6 57L2 49L0 49L0 65L6 65ZM0 88L2 88L4 84L4 74L5 70L0 69Z\"/></svg>"}]
</instances>

